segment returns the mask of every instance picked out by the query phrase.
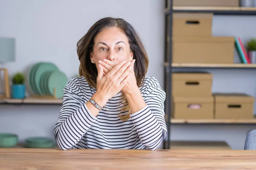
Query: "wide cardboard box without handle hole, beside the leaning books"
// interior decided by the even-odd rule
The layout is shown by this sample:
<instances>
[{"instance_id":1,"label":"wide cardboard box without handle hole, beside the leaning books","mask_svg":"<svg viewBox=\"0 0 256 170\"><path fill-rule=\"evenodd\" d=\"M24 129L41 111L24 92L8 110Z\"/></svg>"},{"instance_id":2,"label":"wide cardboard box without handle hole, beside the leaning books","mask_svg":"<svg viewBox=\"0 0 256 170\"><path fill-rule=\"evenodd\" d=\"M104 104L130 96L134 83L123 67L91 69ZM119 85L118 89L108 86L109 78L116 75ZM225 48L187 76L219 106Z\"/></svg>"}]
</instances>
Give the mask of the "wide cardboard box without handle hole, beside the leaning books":
<instances>
[{"instance_id":1,"label":"wide cardboard box without handle hole, beside the leaning books","mask_svg":"<svg viewBox=\"0 0 256 170\"><path fill-rule=\"evenodd\" d=\"M232 64L235 37L173 37L173 63Z\"/></svg>"}]
</instances>

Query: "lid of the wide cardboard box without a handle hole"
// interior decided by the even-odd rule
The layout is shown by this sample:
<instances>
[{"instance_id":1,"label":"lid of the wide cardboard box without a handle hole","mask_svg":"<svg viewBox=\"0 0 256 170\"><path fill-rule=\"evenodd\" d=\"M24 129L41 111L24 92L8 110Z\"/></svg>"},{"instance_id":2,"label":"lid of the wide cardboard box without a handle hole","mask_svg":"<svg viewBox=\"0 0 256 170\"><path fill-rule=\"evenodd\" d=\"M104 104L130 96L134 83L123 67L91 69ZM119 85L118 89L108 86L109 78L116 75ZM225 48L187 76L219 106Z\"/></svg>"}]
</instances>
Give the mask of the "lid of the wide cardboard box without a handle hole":
<instances>
[{"instance_id":1,"label":"lid of the wide cardboard box without a handle hole","mask_svg":"<svg viewBox=\"0 0 256 170\"><path fill-rule=\"evenodd\" d=\"M221 36L173 36L173 42L230 42L235 43L235 37L221 37Z\"/></svg>"}]
</instances>

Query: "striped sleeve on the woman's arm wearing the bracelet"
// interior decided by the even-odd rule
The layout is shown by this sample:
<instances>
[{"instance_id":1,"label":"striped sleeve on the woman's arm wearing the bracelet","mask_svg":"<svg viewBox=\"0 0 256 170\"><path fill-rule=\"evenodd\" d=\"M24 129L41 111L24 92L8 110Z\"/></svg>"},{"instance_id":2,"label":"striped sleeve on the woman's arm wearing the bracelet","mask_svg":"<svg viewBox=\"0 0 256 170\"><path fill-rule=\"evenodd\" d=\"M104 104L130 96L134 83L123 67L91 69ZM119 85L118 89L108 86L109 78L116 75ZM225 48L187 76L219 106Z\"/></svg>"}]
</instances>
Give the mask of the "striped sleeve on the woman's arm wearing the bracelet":
<instances>
[{"instance_id":1,"label":"striped sleeve on the woman's arm wearing the bracelet","mask_svg":"<svg viewBox=\"0 0 256 170\"><path fill-rule=\"evenodd\" d=\"M80 141L96 117L86 107L76 79L68 82L63 92L63 105L54 127L54 135L61 150L68 150Z\"/></svg>"}]
</instances>

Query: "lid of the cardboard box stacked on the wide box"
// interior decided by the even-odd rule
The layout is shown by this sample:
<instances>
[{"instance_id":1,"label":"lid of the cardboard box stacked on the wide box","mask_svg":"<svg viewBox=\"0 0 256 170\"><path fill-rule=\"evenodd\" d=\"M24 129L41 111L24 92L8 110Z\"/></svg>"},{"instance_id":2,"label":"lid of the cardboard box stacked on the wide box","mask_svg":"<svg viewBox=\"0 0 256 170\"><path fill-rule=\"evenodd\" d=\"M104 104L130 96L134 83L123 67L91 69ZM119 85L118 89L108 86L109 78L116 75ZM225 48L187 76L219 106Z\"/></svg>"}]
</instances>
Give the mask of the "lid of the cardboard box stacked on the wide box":
<instances>
[{"instance_id":1,"label":"lid of the cardboard box stacked on the wide box","mask_svg":"<svg viewBox=\"0 0 256 170\"><path fill-rule=\"evenodd\" d=\"M173 18L185 18L185 19L201 19L209 18L212 19L213 13L173 13Z\"/></svg>"}]
</instances>

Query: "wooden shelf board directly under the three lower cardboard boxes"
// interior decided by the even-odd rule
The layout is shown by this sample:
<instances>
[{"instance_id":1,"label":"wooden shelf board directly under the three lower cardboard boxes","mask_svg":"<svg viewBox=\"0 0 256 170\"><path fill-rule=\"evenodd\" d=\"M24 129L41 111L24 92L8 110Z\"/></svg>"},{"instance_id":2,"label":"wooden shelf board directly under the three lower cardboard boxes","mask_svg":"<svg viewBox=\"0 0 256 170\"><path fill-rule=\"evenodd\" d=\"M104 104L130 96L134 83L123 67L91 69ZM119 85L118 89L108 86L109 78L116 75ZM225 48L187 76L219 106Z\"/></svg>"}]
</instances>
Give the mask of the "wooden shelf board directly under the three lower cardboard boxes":
<instances>
[{"instance_id":1,"label":"wooden shelf board directly under the three lower cardboard boxes","mask_svg":"<svg viewBox=\"0 0 256 170\"><path fill-rule=\"evenodd\" d=\"M256 119L171 119L173 124L256 124Z\"/></svg>"}]
</instances>

